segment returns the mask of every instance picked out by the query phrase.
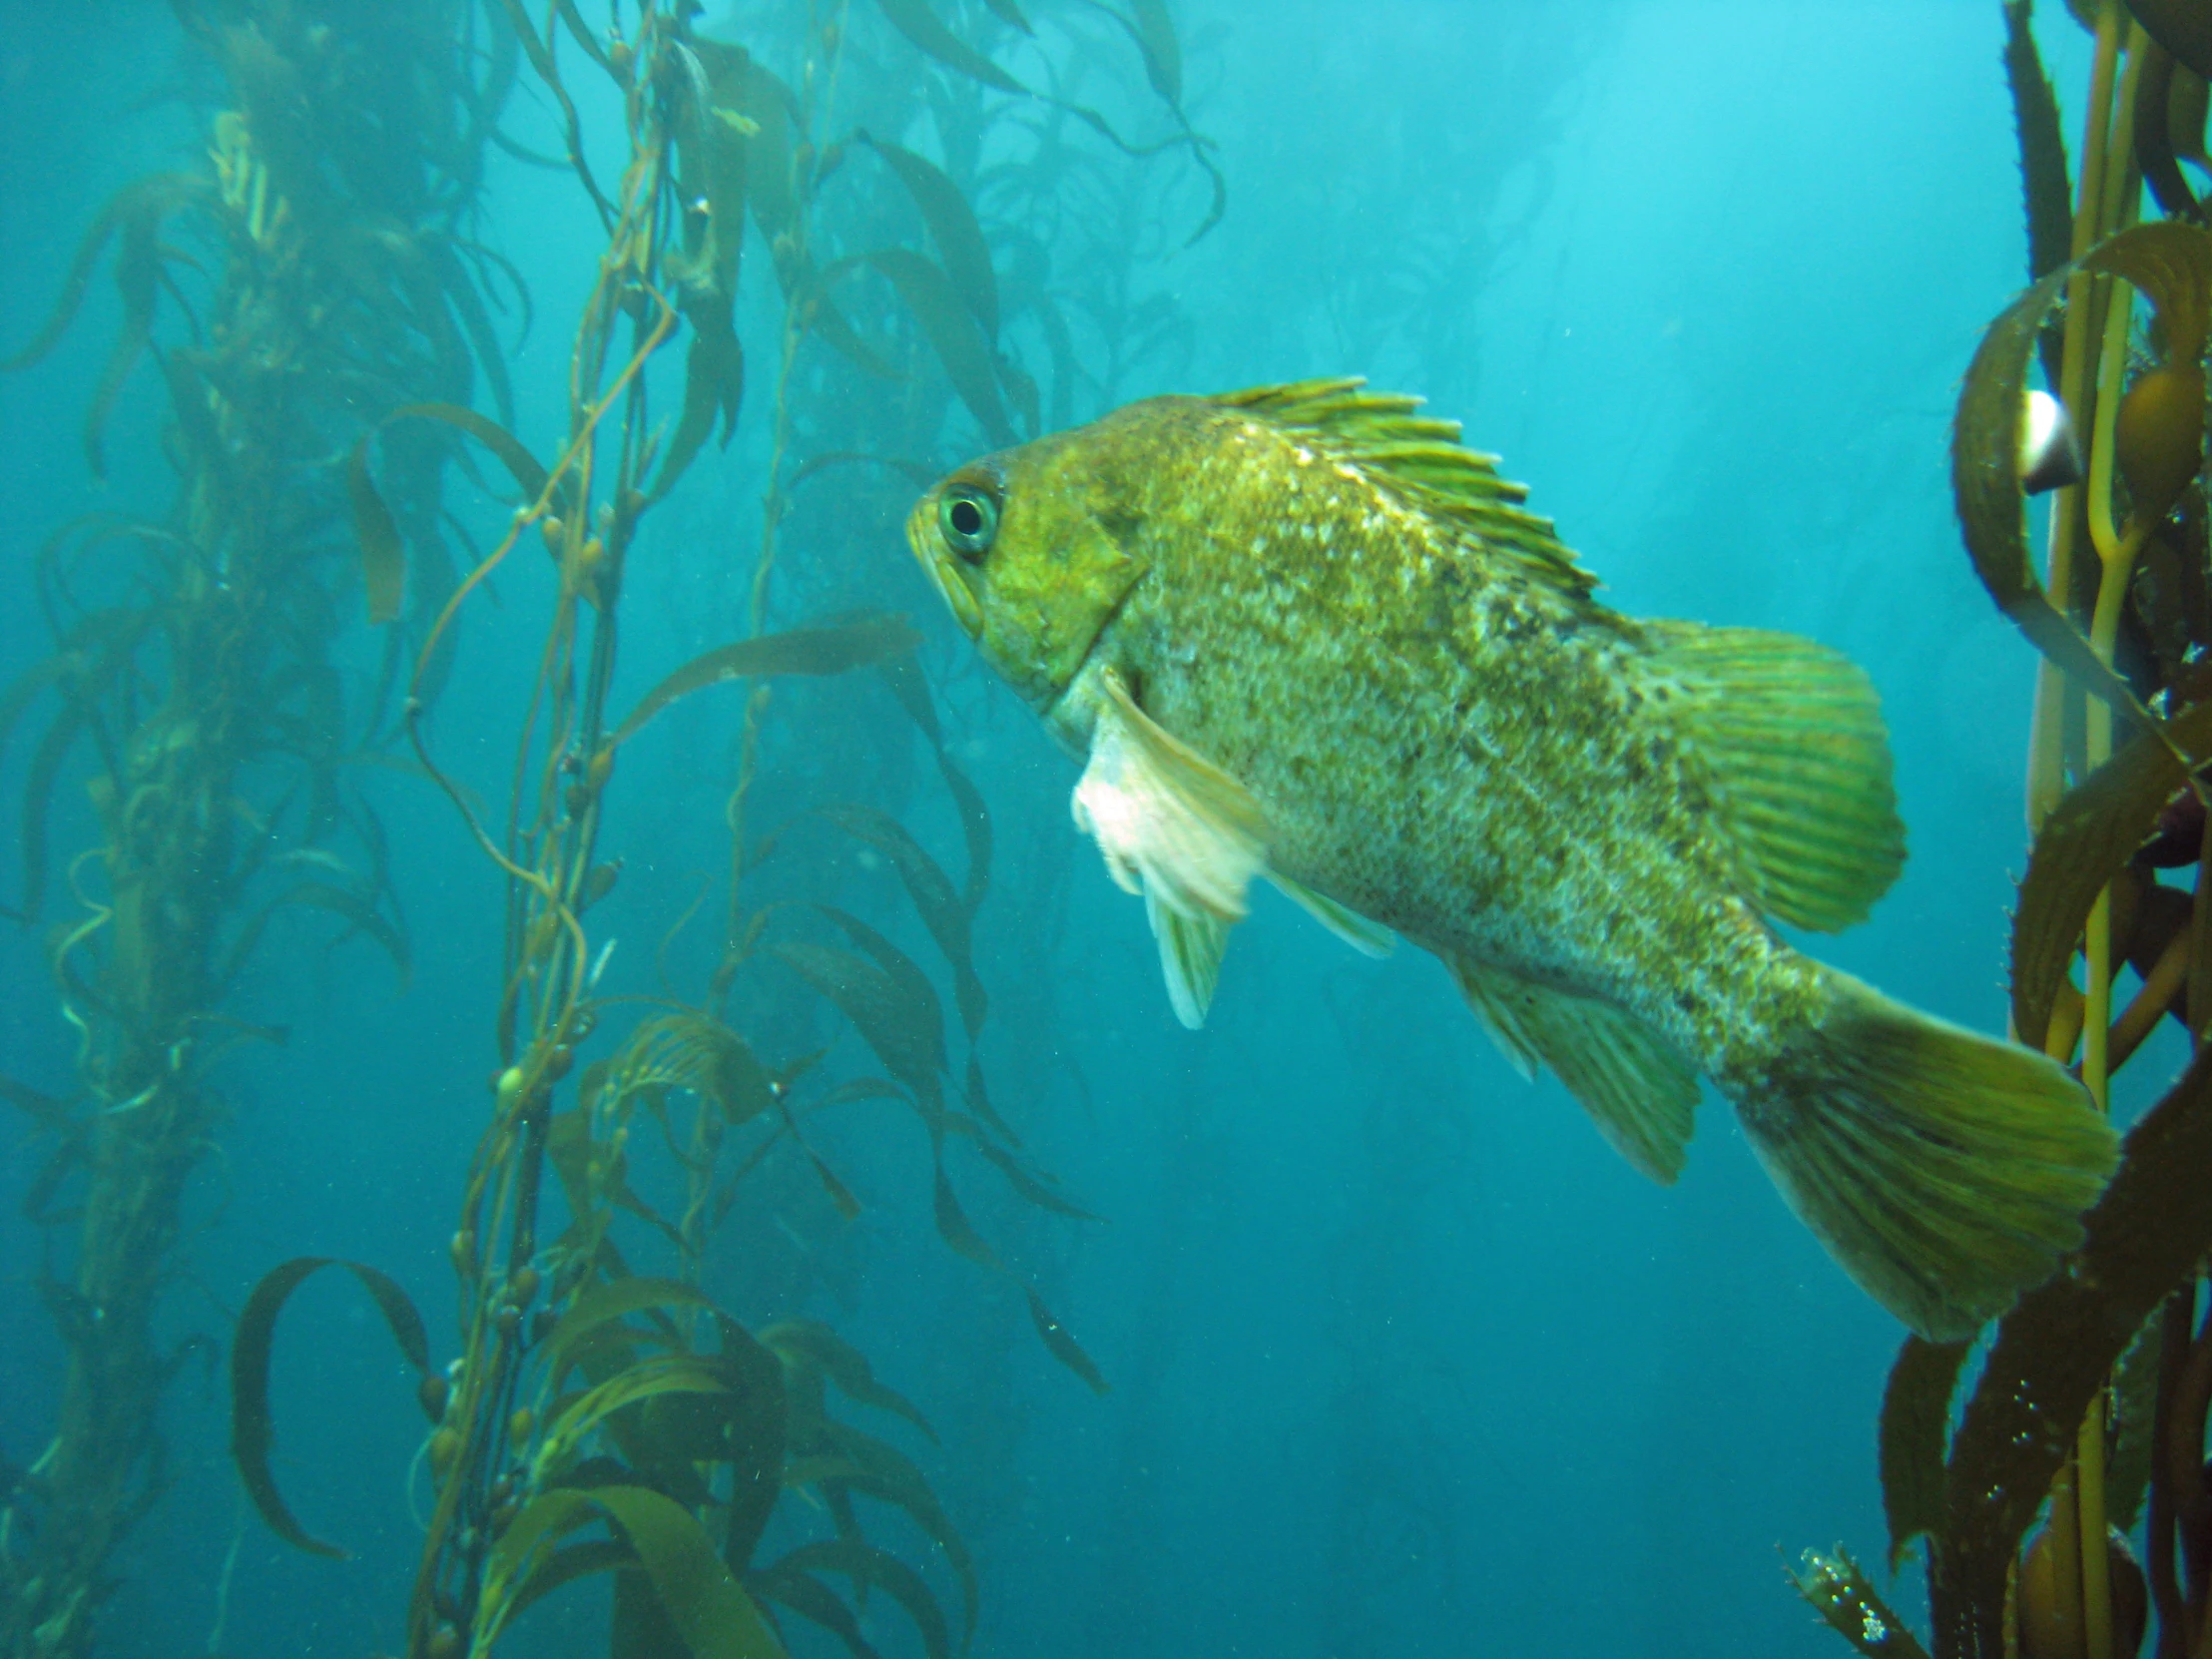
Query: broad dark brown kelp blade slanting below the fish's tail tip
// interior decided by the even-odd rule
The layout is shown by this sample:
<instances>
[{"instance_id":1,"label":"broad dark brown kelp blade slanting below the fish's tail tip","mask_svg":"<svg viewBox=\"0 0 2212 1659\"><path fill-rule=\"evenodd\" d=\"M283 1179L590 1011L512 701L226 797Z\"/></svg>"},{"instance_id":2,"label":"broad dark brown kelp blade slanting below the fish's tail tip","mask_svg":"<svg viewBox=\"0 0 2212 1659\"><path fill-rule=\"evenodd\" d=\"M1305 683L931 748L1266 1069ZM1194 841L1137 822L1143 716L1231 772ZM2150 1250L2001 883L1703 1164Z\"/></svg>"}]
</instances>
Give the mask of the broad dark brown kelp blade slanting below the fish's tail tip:
<instances>
[{"instance_id":1,"label":"broad dark brown kelp blade slanting below the fish's tail tip","mask_svg":"<svg viewBox=\"0 0 2212 1659\"><path fill-rule=\"evenodd\" d=\"M2002 1652L2004 1582L2075 1427L2159 1301L2212 1248L2212 1048L2121 1146L2068 1265L1997 1325L1951 1438L1929 1599L1944 1652ZM1978 1646L1975 1646L1978 1644Z\"/></svg>"}]
</instances>

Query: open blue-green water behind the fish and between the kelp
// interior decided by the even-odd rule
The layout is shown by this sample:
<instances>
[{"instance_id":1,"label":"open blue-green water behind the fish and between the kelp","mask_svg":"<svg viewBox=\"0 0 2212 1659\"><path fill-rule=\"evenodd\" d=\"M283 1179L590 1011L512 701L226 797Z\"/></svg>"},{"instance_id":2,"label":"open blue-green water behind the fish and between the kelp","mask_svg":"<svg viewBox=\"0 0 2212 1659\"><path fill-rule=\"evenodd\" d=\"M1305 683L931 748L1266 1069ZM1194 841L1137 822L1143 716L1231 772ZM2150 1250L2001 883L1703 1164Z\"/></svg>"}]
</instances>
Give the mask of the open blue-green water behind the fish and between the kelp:
<instances>
[{"instance_id":1,"label":"open blue-green water behind the fish and between the kelp","mask_svg":"<svg viewBox=\"0 0 2212 1659\"><path fill-rule=\"evenodd\" d=\"M867 11L854 27L880 33ZM2066 100L2086 38L2051 13ZM1913 852L1876 918L1820 953L1997 1029L2031 653L1975 586L1947 487L1958 376L2024 283L1997 7L1188 0L1175 15L1230 208L1168 252L1203 188L1177 184L1172 157L1130 170L1161 215L1133 292L1166 296L1177 330L1077 394L1077 418L1102 398L1367 374L1500 451L1619 608L1840 646L1882 692ZM0 20L13 349L104 195L188 164L197 137L161 102L184 77L166 7L9 0ZM526 95L509 128L555 144ZM487 206L538 303L511 367L544 453L595 226L568 179L504 159ZM745 416L633 557L626 692L741 628L774 338L763 250L745 259ZM77 511L168 500L148 369L108 436L106 484L77 449L113 319L102 279L46 363L0 378L9 672L46 650L22 602L31 549ZM980 447L956 411L933 460ZM860 1221L739 1223L710 1274L750 1321L836 1323L931 1418L938 1447L902 1444L978 1557L973 1650L1843 1652L1787 1593L1776 1551L1843 1540L1878 1559L1874 1413L1900 1332L1790 1217L1728 1110L1708 1102L1688 1175L1659 1190L1555 1082L1528 1086L1489 1048L1433 960L1356 958L1272 898L1239 929L1208 1029L1181 1031L1139 907L1066 821L1073 765L940 615L900 546L900 507L856 489L810 511L876 515L865 564L836 580L929 635L949 743L998 827L978 920L995 1099L1035 1164L1106 1221L1018 1206L975 1161L953 1175L1113 1391L1093 1396L1042 1352L1011 1281L936 1241L922 1135L887 1106L825 1130ZM801 573L807 526L792 522L783 555ZM498 608L471 611L438 717L440 752L487 792L504 785L540 582L542 564L518 562ZM803 622L807 586L787 591L774 622ZM343 650L354 672L374 664L358 626ZM907 741L856 688L779 708L852 721L854 743ZM628 858L602 922L617 989L653 989L659 933L723 863L737 719L739 695L701 697L624 757L604 843ZM832 781L898 776L902 799L883 805L958 867L920 750L869 765L823 761ZM18 748L0 776L9 812L22 768ZM451 1349L445 1239L495 1064L500 889L442 799L398 776L367 787L414 927L411 984L398 993L369 949L301 945L248 987L252 1018L288 1022L292 1042L226 1071L232 1115L195 1188L204 1225L179 1248L175 1334L221 1334L259 1274L312 1252L398 1276L434 1352ZM82 799L64 794L55 845L84 832ZM845 902L925 949L880 872L856 869ZM703 949L677 960L697 973ZM0 1068L60 1088L73 1048L38 933L9 931L0 951ZM841 1062L872 1068L852 1037ZM60 1349L38 1301L44 1241L13 1203L40 1148L20 1121L7 1135L0 1451L27 1462ZM276 1400L279 1478L352 1559L296 1555L261 1528L226 1458L221 1367L186 1367L168 1400L173 1486L119 1562L111 1652L206 1652L232 1551L223 1652L398 1648L422 1425L411 1374L349 1285L316 1283L288 1314ZM896 1526L887 1537L925 1559ZM1918 1608L1911 1575L1898 1595ZM513 1650L591 1652L575 1613L588 1606L575 1593ZM885 1652L918 1652L889 1604L867 1628ZM814 1635L803 1652L832 1650Z\"/></svg>"}]
</instances>

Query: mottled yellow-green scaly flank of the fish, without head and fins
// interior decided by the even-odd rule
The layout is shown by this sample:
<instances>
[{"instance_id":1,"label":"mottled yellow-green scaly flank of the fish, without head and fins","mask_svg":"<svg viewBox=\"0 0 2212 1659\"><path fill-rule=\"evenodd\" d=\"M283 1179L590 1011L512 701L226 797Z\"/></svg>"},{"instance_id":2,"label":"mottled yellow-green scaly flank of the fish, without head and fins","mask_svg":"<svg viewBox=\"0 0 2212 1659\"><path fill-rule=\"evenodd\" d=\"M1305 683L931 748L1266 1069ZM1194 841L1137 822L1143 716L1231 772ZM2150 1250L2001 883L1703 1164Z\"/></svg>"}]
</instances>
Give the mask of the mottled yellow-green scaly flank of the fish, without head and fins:
<instances>
[{"instance_id":1,"label":"mottled yellow-green scaly flank of the fish, without head and fins","mask_svg":"<svg viewBox=\"0 0 2212 1659\"><path fill-rule=\"evenodd\" d=\"M1102 646L1267 803L1276 867L1442 956L1613 998L1710 1068L1756 1064L1770 1004L1818 989L1772 982L1790 951L1728 885L1694 759L1644 719L1635 626L1498 571L1321 440L1188 425L1245 465L1159 491L1164 580Z\"/></svg>"}]
</instances>

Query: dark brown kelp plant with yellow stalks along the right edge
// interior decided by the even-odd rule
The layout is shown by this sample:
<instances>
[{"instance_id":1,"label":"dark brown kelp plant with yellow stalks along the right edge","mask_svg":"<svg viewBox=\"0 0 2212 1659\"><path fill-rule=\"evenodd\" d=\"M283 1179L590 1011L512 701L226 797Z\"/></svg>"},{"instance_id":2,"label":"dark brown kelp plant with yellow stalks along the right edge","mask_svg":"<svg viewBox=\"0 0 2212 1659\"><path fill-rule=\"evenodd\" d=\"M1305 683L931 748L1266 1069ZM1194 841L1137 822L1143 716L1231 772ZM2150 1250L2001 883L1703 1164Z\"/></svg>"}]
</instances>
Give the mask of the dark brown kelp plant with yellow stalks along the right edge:
<instances>
[{"instance_id":1,"label":"dark brown kelp plant with yellow stalks along the right edge","mask_svg":"<svg viewBox=\"0 0 2212 1659\"><path fill-rule=\"evenodd\" d=\"M1973 1343L1898 1356L1880 1413L1889 1566L1924 1540L1936 1659L2126 1659L2146 1628L2159 1659L2212 1652L2212 232L2179 166L2203 164L2212 42L2185 7L2073 9L2097 35L2079 190L2031 4L2004 4L2035 285L1975 352L1951 458L1975 573L2044 657L2013 1033L2075 1062L2099 1106L2168 1015L2194 1060L2128 1133L2081 1250L1984 1334L1964 1402ZM2168 217L2137 223L2146 181ZM2055 493L2046 575L2020 482L2037 361L2088 462ZM2161 880L2185 867L2194 885ZM2124 971L2139 987L2115 1006ZM1840 1551L1792 1579L1860 1652L1927 1652Z\"/></svg>"}]
</instances>

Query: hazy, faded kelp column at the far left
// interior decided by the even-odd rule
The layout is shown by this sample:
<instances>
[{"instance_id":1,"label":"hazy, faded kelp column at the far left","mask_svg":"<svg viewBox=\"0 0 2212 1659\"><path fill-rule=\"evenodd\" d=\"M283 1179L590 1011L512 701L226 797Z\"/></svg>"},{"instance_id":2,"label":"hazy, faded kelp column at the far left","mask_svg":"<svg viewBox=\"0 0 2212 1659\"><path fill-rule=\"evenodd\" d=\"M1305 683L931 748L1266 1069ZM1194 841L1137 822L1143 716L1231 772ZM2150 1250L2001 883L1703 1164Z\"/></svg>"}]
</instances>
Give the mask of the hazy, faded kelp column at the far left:
<instances>
[{"instance_id":1,"label":"hazy, faded kelp column at the far left","mask_svg":"<svg viewBox=\"0 0 2212 1659\"><path fill-rule=\"evenodd\" d=\"M226 1055L285 1035L254 1022L243 975L319 949L292 916L407 971L352 770L380 717L334 653L354 566L330 447L363 414L467 400L478 372L504 387L471 212L513 40L467 0L175 11L221 86L204 155L115 195L7 365L64 334L113 250L122 327L86 458L104 471L111 418L146 398L177 473L166 513L53 533L33 575L55 653L0 695L0 743L31 743L13 909L60 909L49 960L80 1053L66 1097L0 1088L46 1148L29 1214L58 1243L44 1301L66 1354L51 1440L4 1498L0 1650L49 1659L93 1646L117 1546L166 1484L157 1409L192 1343L164 1352L155 1318L188 1183L226 1126ZM440 445L389 467L429 586L442 469ZM100 838L53 847L77 779Z\"/></svg>"}]
</instances>

